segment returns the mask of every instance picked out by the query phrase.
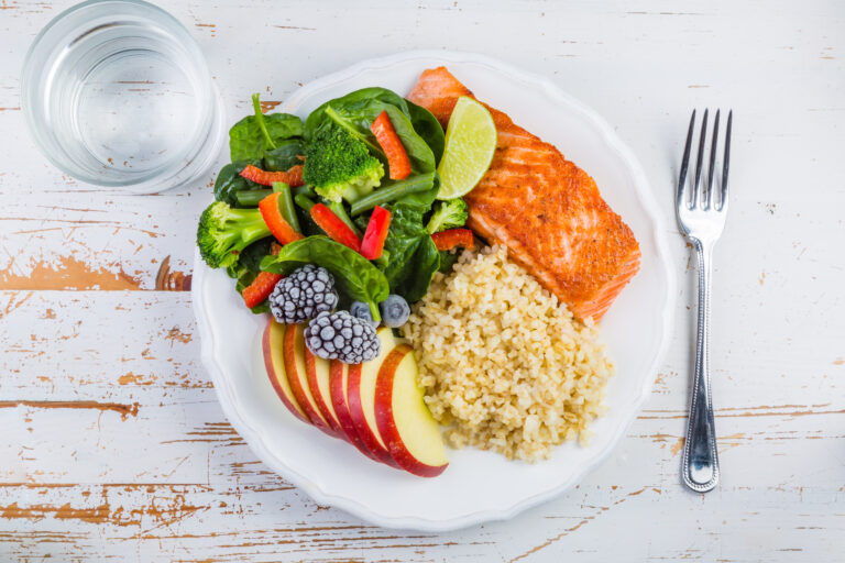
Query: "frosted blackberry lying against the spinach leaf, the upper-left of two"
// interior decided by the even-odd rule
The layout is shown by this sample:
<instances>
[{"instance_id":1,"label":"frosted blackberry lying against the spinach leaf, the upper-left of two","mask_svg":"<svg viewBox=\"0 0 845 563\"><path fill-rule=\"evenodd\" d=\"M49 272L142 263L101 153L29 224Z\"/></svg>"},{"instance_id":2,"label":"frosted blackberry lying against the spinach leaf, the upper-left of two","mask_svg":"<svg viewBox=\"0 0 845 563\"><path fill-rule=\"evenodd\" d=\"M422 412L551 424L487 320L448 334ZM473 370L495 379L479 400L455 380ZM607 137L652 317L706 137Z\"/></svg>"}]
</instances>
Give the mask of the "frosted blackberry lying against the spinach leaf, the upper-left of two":
<instances>
[{"instance_id":1,"label":"frosted blackberry lying against the spinach leaf, the upper-left of two","mask_svg":"<svg viewBox=\"0 0 845 563\"><path fill-rule=\"evenodd\" d=\"M334 278L329 271L306 264L282 278L270 294L270 310L278 322L297 324L338 306Z\"/></svg>"}]
</instances>

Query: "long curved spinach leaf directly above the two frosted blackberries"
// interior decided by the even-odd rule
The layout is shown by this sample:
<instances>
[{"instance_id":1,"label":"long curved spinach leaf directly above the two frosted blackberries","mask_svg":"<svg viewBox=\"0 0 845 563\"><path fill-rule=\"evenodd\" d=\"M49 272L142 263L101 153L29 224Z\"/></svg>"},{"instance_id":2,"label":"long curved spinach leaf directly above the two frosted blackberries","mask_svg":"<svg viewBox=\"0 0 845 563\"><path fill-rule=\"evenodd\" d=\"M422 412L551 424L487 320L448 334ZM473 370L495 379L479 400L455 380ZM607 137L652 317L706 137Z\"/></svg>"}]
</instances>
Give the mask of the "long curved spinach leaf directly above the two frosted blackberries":
<instances>
[{"instance_id":1,"label":"long curved spinach leaf directly above the two frosted blackberries","mask_svg":"<svg viewBox=\"0 0 845 563\"><path fill-rule=\"evenodd\" d=\"M287 275L305 264L317 264L331 272L341 292L369 302L373 318L381 318L377 303L391 292L384 274L369 260L328 236L308 236L286 244L277 255L261 261L261 268Z\"/></svg>"}]
</instances>

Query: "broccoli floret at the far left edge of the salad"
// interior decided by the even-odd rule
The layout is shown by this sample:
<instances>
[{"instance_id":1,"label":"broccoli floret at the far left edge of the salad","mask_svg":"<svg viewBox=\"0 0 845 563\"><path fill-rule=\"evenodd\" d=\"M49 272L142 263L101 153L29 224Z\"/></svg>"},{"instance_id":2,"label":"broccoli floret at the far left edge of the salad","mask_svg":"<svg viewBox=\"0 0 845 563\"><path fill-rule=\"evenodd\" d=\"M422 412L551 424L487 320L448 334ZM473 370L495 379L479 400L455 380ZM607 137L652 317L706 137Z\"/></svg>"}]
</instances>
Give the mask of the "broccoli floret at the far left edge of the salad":
<instances>
[{"instance_id":1,"label":"broccoli floret at the far left edge of the salad","mask_svg":"<svg viewBox=\"0 0 845 563\"><path fill-rule=\"evenodd\" d=\"M212 268L229 267L238 253L253 242L270 236L270 229L257 209L234 209L215 201L202 211L197 228L197 246Z\"/></svg>"}]
</instances>

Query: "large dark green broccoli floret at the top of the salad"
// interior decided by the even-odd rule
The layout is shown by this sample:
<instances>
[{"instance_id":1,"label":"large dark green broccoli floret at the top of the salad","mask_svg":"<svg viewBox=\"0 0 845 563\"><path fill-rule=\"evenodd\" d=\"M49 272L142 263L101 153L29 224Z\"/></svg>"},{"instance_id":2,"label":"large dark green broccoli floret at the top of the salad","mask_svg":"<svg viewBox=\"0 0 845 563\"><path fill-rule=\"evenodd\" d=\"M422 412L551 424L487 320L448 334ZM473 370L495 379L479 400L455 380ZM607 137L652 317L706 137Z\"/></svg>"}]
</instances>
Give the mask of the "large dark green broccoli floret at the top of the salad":
<instances>
[{"instance_id":1,"label":"large dark green broccoli floret at the top of the salad","mask_svg":"<svg viewBox=\"0 0 845 563\"><path fill-rule=\"evenodd\" d=\"M329 201L352 203L381 183L384 166L366 145L340 125L320 128L305 154L306 184Z\"/></svg>"}]
</instances>

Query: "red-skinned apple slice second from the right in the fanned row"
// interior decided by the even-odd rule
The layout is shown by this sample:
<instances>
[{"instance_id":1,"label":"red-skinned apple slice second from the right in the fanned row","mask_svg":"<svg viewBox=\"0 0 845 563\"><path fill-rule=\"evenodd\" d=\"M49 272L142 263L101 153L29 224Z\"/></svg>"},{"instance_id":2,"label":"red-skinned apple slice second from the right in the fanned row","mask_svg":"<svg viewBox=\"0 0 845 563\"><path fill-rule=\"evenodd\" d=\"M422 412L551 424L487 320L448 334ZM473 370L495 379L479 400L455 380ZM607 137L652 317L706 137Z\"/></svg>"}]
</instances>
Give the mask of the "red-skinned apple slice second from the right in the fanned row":
<instances>
[{"instance_id":1,"label":"red-skinned apple slice second from the right in the fanned row","mask_svg":"<svg viewBox=\"0 0 845 563\"><path fill-rule=\"evenodd\" d=\"M358 435L366 449L375 455L376 460L392 467L399 467L391 452L387 451L387 444L382 441L375 421L375 380L378 375L378 367L396 345L396 339L393 336L393 331L386 327L378 329L377 334L382 343L378 357L363 364L349 366L347 405L349 405L349 413L355 424Z\"/></svg>"}]
</instances>

